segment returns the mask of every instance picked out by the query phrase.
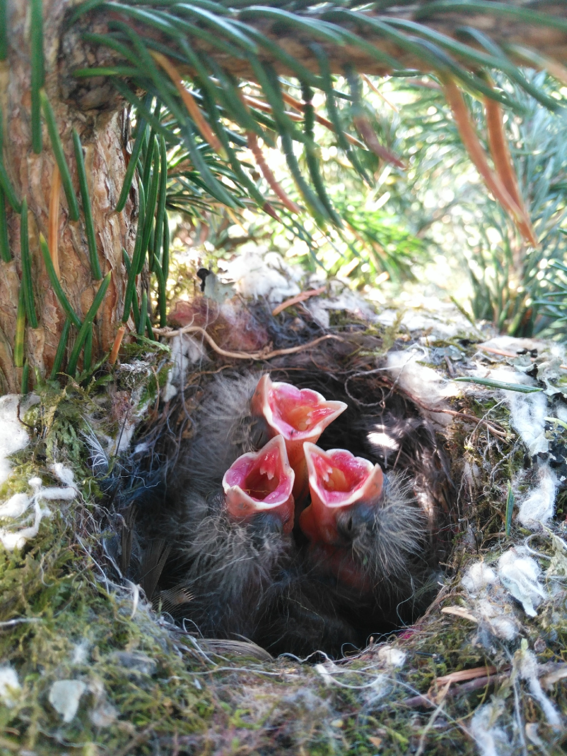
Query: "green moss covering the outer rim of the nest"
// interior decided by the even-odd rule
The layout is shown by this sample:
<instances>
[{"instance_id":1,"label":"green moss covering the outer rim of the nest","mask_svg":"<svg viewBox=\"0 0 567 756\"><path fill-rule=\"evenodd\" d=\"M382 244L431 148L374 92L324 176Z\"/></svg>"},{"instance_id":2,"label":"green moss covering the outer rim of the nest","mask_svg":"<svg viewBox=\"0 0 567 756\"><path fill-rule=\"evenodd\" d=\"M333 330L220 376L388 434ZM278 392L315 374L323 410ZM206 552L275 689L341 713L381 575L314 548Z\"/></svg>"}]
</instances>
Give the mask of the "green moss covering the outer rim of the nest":
<instances>
[{"instance_id":1,"label":"green moss covering the outer rim of the nest","mask_svg":"<svg viewBox=\"0 0 567 756\"><path fill-rule=\"evenodd\" d=\"M397 330L397 325L373 328L368 334L380 335L386 348L398 339ZM429 690L438 695L437 678L451 672L482 665L503 671L510 665L501 649L479 645L477 627L470 621L440 612L443 606L466 603L459 577L469 562L479 555L494 562L525 537L519 528L513 528L510 540L498 535L507 483L524 466L506 407L488 392L482 401L465 398L455 404L478 418L488 413L504 435L494 438L485 426L469 422L454 423L448 433L454 479L463 479L465 464L476 473L469 482L463 479L460 523L451 536L441 596L415 627L387 639L407 653L404 666L383 668L380 646L370 646L349 662L339 662L333 674L341 684L327 686L316 669L290 658L259 663L230 652L222 657L206 652L144 602L136 606L135 588L119 581L105 556L104 500L88 466L85 435L96 429L116 437L132 411L132 396L136 407L148 401L151 406L169 365L165 352L149 353L140 345L129 350L132 367L95 374L87 385L68 383L59 389L46 383L37 388L41 402L23 418L32 443L15 455L11 478L0 488L4 500L29 491L32 476L55 485L49 465L65 461L82 494L73 503L51 503L52 516L42 520L39 535L23 550L0 552L0 621L18 620L0 628L0 658L17 670L23 687L16 705L0 706L0 754L24 748L85 756L397 756L417 751L422 743L426 754L475 753L466 727L476 708L496 692L494 686L447 696L433 723L433 710L406 702ZM559 507L565 506L564 499L562 494ZM545 534L538 537L538 551L551 563L553 541ZM531 648L538 639L545 641L539 662L567 662L561 590L536 618L523 618L522 634ZM63 723L48 701L51 684L66 679L87 686L70 723ZM538 722L550 753L559 753L562 736L547 728L538 705L519 689L525 721ZM503 687L502 695L506 692ZM565 686L555 686L550 695L567 712ZM507 696L506 706L512 721L513 696Z\"/></svg>"}]
</instances>

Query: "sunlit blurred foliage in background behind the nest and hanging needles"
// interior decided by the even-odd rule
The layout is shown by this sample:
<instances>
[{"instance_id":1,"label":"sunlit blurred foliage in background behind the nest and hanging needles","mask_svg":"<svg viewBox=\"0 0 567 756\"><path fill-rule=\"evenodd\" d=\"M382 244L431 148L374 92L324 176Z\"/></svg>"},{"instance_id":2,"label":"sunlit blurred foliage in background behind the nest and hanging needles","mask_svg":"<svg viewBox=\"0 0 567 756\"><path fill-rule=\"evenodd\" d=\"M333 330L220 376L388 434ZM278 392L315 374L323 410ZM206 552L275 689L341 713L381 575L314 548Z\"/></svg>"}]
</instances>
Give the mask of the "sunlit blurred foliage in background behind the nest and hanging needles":
<instances>
[{"instance_id":1,"label":"sunlit blurred foliage in background behind the nest and hanging needles","mask_svg":"<svg viewBox=\"0 0 567 756\"><path fill-rule=\"evenodd\" d=\"M556 82L544 73L525 74L541 91L550 96L555 91ZM521 115L507 116L506 129L520 191L540 240L534 249L525 244L471 165L435 77L398 77L387 85L382 79L365 79L365 110L371 114L373 131L381 144L401 156L406 169L387 165L355 146L361 172L354 172L336 135L315 123L321 178L340 225L321 222L302 205L277 144L276 148L264 144L262 149L285 194L302 207L299 215L292 215L279 200L271 200L277 220L259 212L232 167L205 141L198 143L198 149L212 175L236 200L232 208L211 197L181 139L169 147L166 207L175 218L177 242L174 238L172 253L179 259L172 261L168 299L193 290L192 279L200 265L217 268L251 242L302 265L306 274L322 268L366 292L386 278L398 284L422 279L427 262L442 255L448 265L454 266L458 259L457 265L469 277L469 302L459 304L473 318L513 336L560 337L567 318L567 301L562 304L562 276L567 271L554 264L564 262L567 244L561 233L567 187L562 115L550 112L522 89L498 82L507 86L522 110ZM285 83L293 98L301 96L293 82ZM333 87L338 92L348 89L341 77L336 77ZM243 92L261 96L251 84ZM352 107L348 100L337 101L340 113ZM315 96L313 104L315 112L322 113L324 98ZM482 104L468 95L467 104L484 138ZM169 111L163 110L160 120L172 134L178 133ZM230 130L232 124L226 125ZM236 154L259 193L268 194L270 187L243 139ZM298 147L296 156L307 170L305 146Z\"/></svg>"}]
</instances>

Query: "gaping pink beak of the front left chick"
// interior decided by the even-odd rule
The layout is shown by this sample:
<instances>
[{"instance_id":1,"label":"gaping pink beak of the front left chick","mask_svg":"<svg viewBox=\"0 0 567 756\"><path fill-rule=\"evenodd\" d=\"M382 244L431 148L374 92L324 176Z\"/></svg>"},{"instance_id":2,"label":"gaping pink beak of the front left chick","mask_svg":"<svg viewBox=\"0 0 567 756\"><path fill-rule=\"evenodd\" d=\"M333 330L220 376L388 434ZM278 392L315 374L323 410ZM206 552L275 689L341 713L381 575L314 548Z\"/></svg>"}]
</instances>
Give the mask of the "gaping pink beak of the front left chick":
<instances>
[{"instance_id":1,"label":"gaping pink beak of the front left chick","mask_svg":"<svg viewBox=\"0 0 567 756\"><path fill-rule=\"evenodd\" d=\"M280 517L283 532L293 528L293 482L295 473L287 459L281 435L260 451L243 454L232 463L222 479L228 515L246 522L261 513Z\"/></svg>"}]
</instances>

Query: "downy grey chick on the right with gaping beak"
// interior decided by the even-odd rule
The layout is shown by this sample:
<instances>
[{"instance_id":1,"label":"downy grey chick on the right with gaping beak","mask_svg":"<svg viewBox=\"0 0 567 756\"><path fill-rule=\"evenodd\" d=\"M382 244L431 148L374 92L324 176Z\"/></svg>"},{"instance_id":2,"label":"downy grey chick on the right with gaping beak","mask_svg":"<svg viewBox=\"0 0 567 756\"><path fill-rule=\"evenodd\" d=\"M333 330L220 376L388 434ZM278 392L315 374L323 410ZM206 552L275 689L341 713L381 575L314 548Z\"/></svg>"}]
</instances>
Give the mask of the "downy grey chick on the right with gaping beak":
<instances>
[{"instance_id":1,"label":"downy grey chick on the right with gaping beak","mask_svg":"<svg viewBox=\"0 0 567 756\"><path fill-rule=\"evenodd\" d=\"M424 518L409 486L344 449L304 445L311 503L299 525L320 572L359 596L399 593L414 580Z\"/></svg>"}]
</instances>

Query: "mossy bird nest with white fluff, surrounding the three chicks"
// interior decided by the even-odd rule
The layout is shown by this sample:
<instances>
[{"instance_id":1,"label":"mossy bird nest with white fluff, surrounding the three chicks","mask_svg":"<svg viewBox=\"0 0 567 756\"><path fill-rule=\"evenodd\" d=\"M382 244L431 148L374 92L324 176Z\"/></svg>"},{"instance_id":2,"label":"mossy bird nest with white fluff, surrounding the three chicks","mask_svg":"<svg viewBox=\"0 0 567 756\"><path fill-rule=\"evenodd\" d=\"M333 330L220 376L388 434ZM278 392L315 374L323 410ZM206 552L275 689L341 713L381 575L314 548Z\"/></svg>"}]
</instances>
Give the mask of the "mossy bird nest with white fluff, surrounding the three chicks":
<instances>
[{"instance_id":1,"label":"mossy bird nest with white fluff, surrounding the three chicks","mask_svg":"<svg viewBox=\"0 0 567 756\"><path fill-rule=\"evenodd\" d=\"M88 386L0 400L4 429L29 437L6 447L0 491L2 751L559 753L560 350L487 341L457 315L331 309L323 328L304 308L192 307L169 347L130 345ZM268 371L345 401L321 445L404 472L428 513L426 587L382 624L351 608L358 641L339 649L200 632L183 621L198 584L172 593L163 471L175 478L218 376Z\"/></svg>"}]
</instances>

